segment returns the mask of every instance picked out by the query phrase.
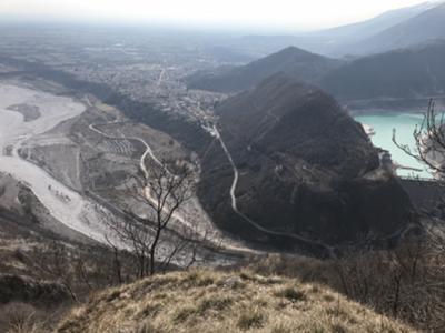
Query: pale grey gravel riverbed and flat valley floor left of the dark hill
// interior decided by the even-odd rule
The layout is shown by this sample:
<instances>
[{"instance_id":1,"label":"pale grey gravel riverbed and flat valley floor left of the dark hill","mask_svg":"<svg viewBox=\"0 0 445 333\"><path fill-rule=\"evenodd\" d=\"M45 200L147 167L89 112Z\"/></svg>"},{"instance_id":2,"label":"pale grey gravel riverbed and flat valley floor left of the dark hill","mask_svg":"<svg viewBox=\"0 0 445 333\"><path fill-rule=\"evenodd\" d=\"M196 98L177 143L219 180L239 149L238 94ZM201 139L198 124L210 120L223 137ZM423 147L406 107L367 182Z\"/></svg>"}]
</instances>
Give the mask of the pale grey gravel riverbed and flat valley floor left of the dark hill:
<instances>
[{"instance_id":1,"label":"pale grey gravel riverbed and flat valley floor left of the dark hill","mask_svg":"<svg viewBox=\"0 0 445 333\"><path fill-rule=\"evenodd\" d=\"M180 160L188 159L188 154L167 134L129 123L115 108L89 97L73 99L61 92L60 87L44 92L20 80L0 82L0 173L22 182L36 194L48 211L47 220L55 219L92 242L108 245L111 241L126 249L113 239L106 221L126 219L128 208L137 215L150 209L128 194L132 179L140 171L147 175L148 159ZM23 108L37 110L38 114L28 119L17 111ZM212 250L207 249L197 254L210 255L214 264L230 263L241 253L251 252L220 234L197 198L174 216L171 232L180 233L184 228L195 228L194 232L214 242L210 245L215 249L234 252L215 250L209 254ZM175 238L164 241L159 255L171 251L175 245L169 242L174 243ZM195 254L179 258L187 261L189 255Z\"/></svg>"}]
</instances>

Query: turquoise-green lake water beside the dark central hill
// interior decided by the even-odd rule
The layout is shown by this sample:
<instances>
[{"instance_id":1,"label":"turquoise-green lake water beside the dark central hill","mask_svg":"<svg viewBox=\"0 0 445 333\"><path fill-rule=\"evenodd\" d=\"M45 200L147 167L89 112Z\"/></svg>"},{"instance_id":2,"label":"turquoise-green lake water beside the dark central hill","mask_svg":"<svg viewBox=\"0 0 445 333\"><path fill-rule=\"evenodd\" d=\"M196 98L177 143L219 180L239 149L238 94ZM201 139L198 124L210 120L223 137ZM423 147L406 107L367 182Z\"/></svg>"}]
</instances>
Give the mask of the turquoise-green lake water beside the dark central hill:
<instances>
[{"instance_id":1,"label":"turquoise-green lake water beside the dark central hill","mask_svg":"<svg viewBox=\"0 0 445 333\"><path fill-rule=\"evenodd\" d=\"M404 167L411 167L424 170L423 172L414 172L411 170L397 170L397 174L402 176L421 176L431 178L425 167L416 161L414 158L404 153L393 142L393 129L396 129L397 142L400 144L408 144L414 151L415 140L413 131L416 124L421 124L423 120L422 114L414 113L386 113L386 114L362 114L355 117L355 120L373 127L376 132L370 137L374 145L389 151L393 161Z\"/></svg>"}]
</instances>

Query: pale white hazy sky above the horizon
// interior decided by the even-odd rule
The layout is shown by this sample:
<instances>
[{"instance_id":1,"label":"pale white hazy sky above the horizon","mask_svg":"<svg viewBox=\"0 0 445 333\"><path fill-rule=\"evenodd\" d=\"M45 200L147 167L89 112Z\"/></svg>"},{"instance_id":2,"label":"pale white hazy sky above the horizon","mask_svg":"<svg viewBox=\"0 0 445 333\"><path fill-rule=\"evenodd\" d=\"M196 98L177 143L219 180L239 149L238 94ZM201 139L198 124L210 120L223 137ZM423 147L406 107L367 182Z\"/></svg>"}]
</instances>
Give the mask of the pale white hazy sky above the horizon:
<instances>
[{"instance_id":1,"label":"pale white hazy sky above the horizon","mask_svg":"<svg viewBox=\"0 0 445 333\"><path fill-rule=\"evenodd\" d=\"M425 0L0 0L3 17L314 29Z\"/></svg>"}]
</instances>

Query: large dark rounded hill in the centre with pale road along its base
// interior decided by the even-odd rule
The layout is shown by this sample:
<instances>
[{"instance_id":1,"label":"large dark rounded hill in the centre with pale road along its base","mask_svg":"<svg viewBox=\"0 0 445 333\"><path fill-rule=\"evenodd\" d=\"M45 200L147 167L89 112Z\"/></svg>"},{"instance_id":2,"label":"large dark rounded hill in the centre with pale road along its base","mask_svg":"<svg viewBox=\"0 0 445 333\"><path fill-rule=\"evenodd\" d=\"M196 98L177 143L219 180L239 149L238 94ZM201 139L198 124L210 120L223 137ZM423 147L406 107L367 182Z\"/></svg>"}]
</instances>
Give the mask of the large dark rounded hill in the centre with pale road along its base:
<instances>
[{"instance_id":1,"label":"large dark rounded hill in the centre with pale road along its base","mask_svg":"<svg viewBox=\"0 0 445 333\"><path fill-rule=\"evenodd\" d=\"M202 159L199 192L222 229L295 246L301 244L259 231L246 218L327 243L397 233L413 221L396 180L376 175L378 154L362 127L319 89L275 75L217 112L238 182L234 186L233 165L215 144ZM230 186L244 216L234 214Z\"/></svg>"}]
</instances>

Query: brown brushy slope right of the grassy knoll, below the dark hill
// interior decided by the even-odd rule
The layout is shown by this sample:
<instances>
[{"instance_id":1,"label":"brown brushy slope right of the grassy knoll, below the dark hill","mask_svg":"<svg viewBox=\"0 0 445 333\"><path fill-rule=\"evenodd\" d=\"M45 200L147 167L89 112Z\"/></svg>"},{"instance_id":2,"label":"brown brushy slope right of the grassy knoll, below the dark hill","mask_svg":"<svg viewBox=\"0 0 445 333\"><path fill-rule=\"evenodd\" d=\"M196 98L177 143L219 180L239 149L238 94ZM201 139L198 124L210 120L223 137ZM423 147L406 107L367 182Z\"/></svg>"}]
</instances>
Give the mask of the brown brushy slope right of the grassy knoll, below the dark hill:
<instances>
[{"instance_id":1,"label":"brown brushy slope right of the grassy knoll, below the dark hill","mask_svg":"<svg viewBox=\"0 0 445 333\"><path fill-rule=\"evenodd\" d=\"M326 285L422 332L445 332L445 240L406 239L396 248L346 251L336 260L270 254L249 270Z\"/></svg>"}]
</instances>

